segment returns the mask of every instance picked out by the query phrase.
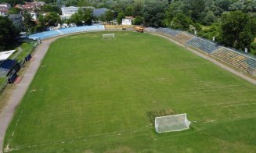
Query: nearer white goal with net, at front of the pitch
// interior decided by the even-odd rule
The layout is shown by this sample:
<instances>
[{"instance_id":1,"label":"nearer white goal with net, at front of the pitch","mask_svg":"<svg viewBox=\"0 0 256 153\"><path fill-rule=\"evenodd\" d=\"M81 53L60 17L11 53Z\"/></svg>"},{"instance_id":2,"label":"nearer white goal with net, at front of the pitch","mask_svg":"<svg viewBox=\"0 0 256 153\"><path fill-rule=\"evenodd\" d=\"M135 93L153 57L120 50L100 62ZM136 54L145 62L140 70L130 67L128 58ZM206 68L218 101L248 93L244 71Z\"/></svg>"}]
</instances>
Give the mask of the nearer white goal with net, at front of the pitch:
<instances>
[{"instance_id":1,"label":"nearer white goal with net, at front of the pitch","mask_svg":"<svg viewBox=\"0 0 256 153\"><path fill-rule=\"evenodd\" d=\"M186 113L155 118L155 128L157 133L187 130L189 129L190 123L191 122L186 119Z\"/></svg>"}]
</instances>

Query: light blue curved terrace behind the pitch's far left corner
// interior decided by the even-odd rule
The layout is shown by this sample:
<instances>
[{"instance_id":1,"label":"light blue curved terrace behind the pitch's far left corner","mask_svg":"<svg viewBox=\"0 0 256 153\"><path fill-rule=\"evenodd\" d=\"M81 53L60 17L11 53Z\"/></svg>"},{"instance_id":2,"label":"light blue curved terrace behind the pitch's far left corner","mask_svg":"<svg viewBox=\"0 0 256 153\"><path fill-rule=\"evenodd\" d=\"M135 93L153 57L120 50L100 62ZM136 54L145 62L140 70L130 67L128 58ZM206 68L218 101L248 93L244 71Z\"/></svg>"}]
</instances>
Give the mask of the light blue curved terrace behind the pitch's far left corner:
<instances>
[{"instance_id":1,"label":"light blue curved terrace behind the pitch's far left corner","mask_svg":"<svg viewBox=\"0 0 256 153\"><path fill-rule=\"evenodd\" d=\"M85 31L97 31L97 30L105 30L105 27L102 25L96 25L96 26L82 26L82 27L69 27L65 29L59 29L59 30L50 30L45 31L37 34L31 34L28 36L30 39L47 39L50 37L56 37L62 34L73 34L73 33L79 33L79 32L85 32Z\"/></svg>"}]
</instances>

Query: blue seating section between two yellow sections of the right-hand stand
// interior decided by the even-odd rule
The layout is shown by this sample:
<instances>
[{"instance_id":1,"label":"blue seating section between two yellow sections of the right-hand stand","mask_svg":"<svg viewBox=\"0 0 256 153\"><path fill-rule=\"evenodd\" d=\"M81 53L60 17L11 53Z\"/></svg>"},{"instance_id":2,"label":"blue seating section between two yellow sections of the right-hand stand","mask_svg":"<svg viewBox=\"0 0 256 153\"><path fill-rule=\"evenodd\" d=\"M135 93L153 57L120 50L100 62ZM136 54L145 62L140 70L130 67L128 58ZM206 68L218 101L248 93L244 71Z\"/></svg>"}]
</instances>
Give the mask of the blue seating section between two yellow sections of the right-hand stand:
<instances>
[{"instance_id":1,"label":"blue seating section between two yellow sections of the right-hand stand","mask_svg":"<svg viewBox=\"0 0 256 153\"><path fill-rule=\"evenodd\" d=\"M215 44L211 41L204 40L200 37L193 37L193 39L189 40L187 44L189 44L193 48L200 49L201 51L207 52L209 54L211 54L211 52L214 52L215 50L220 48L218 44Z\"/></svg>"}]
</instances>

